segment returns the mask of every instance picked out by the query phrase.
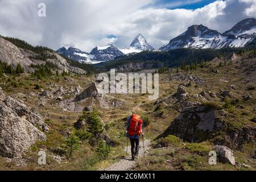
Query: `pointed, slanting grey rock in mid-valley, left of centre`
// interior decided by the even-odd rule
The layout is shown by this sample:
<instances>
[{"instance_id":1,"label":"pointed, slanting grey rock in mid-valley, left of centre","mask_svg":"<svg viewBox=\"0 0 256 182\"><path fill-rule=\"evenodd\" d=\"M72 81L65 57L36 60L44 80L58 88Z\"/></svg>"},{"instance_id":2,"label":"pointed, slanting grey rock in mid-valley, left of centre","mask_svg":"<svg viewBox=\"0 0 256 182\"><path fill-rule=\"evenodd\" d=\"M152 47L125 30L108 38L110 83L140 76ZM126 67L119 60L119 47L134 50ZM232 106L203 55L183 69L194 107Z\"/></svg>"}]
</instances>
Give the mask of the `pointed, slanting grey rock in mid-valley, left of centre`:
<instances>
[{"instance_id":1,"label":"pointed, slanting grey rock in mid-valley, left of centre","mask_svg":"<svg viewBox=\"0 0 256 182\"><path fill-rule=\"evenodd\" d=\"M84 90L84 92L80 93L76 98L75 102L79 102L84 100L88 97L98 97L100 96L100 93L98 92L98 88L95 82L92 82L92 84Z\"/></svg>"}]
</instances>

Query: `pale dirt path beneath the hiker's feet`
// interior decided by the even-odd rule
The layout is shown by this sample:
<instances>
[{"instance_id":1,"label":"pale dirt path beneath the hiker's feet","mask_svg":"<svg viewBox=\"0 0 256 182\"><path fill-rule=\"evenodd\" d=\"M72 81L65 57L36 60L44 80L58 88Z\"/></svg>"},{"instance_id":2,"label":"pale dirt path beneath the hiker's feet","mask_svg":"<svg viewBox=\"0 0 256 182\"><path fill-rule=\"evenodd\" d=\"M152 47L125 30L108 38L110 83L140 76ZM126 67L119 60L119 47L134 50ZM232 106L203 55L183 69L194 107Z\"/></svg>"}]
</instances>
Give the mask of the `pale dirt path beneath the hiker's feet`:
<instances>
[{"instance_id":1,"label":"pale dirt path beneath the hiker's feet","mask_svg":"<svg viewBox=\"0 0 256 182\"><path fill-rule=\"evenodd\" d=\"M145 140L145 155L147 155L148 149L150 149L151 140ZM143 144L142 140L139 142L139 159L143 158ZM126 151L126 147L125 147ZM125 159L121 159L119 162L111 164L105 171L127 171L130 170L135 165L135 161L131 160L131 146L128 147L128 156Z\"/></svg>"}]
</instances>

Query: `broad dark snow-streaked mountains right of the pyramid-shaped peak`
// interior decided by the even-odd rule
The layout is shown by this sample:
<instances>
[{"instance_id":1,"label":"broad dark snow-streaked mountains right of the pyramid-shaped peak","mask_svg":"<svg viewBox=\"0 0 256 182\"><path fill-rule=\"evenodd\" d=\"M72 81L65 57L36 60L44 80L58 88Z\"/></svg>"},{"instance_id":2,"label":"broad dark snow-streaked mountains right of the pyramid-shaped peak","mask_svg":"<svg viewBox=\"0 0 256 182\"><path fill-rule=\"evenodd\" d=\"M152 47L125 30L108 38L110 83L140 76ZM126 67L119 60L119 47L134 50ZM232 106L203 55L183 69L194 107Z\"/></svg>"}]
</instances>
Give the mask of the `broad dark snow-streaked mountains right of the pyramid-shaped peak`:
<instances>
[{"instance_id":1,"label":"broad dark snow-streaked mountains right of the pyramid-shaped peak","mask_svg":"<svg viewBox=\"0 0 256 182\"><path fill-rule=\"evenodd\" d=\"M256 19L249 18L237 23L233 28L220 34L203 25L193 25L170 43L160 47L161 51L176 48L223 48L244 47L256 37Z\"/></svg>"}]
</instances>

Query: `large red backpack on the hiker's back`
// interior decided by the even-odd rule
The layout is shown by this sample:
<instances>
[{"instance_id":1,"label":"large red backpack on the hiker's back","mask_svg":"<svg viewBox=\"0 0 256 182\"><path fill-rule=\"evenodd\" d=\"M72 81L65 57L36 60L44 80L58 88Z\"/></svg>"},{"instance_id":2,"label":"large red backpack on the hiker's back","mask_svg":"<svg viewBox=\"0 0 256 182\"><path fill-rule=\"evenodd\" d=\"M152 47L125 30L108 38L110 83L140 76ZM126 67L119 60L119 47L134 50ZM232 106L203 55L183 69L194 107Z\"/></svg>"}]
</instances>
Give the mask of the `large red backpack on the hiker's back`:
<instances>
[{"instance_id":1,"label":"large red backpack on the hiker's back","mask_svg":"<svg viewBox=\"0 0 256 182\"><path fill-rule=\"evenodd\" d=\"M137 114L131 115L129 130L128 130L129 136L134 137L134 136L140 135L141 126L142 126L141 117L139 117L139 115Z\"/></svg>"}]
</instances>

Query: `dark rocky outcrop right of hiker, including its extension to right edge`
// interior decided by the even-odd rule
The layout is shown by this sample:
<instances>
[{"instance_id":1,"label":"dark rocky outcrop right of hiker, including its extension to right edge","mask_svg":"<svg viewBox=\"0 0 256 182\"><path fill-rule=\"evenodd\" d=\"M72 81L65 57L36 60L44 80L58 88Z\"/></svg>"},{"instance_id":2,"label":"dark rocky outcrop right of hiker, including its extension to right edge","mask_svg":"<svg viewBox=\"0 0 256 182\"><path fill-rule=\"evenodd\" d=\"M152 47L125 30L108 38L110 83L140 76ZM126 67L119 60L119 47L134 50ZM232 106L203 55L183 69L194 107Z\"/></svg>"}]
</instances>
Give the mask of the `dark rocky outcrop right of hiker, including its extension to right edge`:
<instances>
[{"instance_id":1,"label":"dark rocky outcrop right of hiker, including its extension to right edge","mask_svg":"<svg viewBox=\"0 0 256 182\"><path fill-rule=\"evenodd\" d=\"M232 117L234 115L216 110L212 105L187 107L158 138L175 135L188 142L210 139L214 144L243 150L245 143L255 143L256 126L234 127L233 121L229 120Z\"/></svg>"}]
</instances>

